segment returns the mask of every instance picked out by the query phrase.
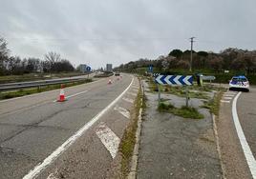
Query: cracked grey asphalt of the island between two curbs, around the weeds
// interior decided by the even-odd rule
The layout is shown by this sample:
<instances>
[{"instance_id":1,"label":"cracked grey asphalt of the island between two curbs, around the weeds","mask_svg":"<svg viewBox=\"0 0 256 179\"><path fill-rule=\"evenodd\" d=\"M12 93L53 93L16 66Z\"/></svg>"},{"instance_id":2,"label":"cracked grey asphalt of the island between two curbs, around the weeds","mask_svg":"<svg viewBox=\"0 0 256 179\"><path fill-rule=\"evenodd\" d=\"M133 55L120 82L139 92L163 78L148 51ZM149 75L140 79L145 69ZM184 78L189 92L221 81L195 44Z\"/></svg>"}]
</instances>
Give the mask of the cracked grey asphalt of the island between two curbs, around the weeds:
<instances>
[{"instance_id":1,"label":"cracked grey asphalt of the island between two curbs, around the weeds","mask_svg":"<svg viewBox=\"0 0 256 179\"><path fill-rule=\"evenodd\" d=\"M202 120L160 113L158 94L145 94L147 109L139 143L138 178L222 178L209 111L200 109ZM176 107L185 103L184 98L171 94L161 97L171 99ZM191 99L190 104L198 108L202 101Z\"/></svg>"}]
</instances>

